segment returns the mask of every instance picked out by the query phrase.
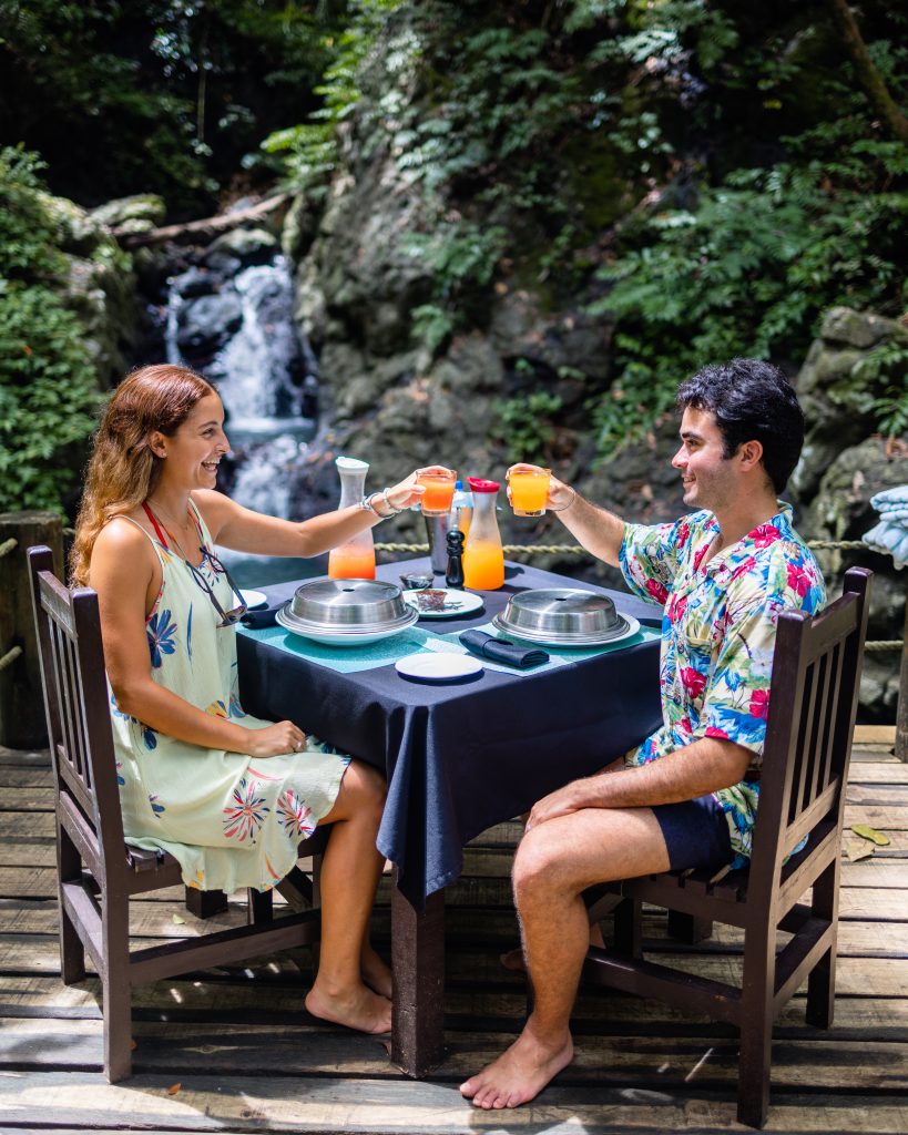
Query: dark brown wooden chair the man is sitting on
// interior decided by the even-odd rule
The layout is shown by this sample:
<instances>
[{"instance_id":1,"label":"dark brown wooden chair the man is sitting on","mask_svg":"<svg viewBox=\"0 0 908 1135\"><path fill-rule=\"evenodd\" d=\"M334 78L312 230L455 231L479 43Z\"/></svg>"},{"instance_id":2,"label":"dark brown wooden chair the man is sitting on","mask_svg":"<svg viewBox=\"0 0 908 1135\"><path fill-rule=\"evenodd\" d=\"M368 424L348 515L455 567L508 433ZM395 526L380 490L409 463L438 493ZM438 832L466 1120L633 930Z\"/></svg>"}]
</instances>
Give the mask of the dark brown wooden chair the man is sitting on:
<instances>
[{"instance_id":1,"label":"dark brown wooden chair the man is sitting on","mask_svg":"<svg viewBox=\"0 0 908 1135\"><path fill-rule=\"evenodd\" d=\"M805 978L808 1024L832 1023L844 789L871 578L851 569L842 597L821 615L785 612L779 619L749 867L666 872L603 888L622 897L615 948L590 948L583 969L595 984L737 1025L738 1119L751 1127L766 1123L773 1020ZM647 961L644 902L680 914L700 935L713 922L741 927L741 985ZM779 931L791 935L781 947Z\"/></svg>"}]
</instances>

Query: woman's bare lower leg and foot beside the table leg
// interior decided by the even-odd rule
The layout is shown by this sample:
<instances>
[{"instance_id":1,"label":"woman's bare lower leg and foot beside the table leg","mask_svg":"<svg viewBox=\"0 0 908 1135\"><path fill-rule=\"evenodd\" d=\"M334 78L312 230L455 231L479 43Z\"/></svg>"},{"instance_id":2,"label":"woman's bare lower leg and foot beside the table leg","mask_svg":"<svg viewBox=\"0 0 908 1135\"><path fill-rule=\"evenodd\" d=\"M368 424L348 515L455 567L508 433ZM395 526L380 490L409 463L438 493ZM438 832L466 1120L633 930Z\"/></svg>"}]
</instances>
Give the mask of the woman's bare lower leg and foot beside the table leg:
<instances>
[{"instance_id":1,"label":"woman's bare lower leg and foot beside the table leg","mask_svg":"<svg viewBox=\"0 0 908 1135\"><path fill-rule=\"evenodd\" d=\"M384 858L376 834L385 782L351 762L335 806L321 821L333 824L321 866L321 950L319 972L305 1007L316 1017L364 1033L390 1028L390 974L368 942L369 916ZM367 987L365 981L372 989Z\"/></svg>"}]
</instances>

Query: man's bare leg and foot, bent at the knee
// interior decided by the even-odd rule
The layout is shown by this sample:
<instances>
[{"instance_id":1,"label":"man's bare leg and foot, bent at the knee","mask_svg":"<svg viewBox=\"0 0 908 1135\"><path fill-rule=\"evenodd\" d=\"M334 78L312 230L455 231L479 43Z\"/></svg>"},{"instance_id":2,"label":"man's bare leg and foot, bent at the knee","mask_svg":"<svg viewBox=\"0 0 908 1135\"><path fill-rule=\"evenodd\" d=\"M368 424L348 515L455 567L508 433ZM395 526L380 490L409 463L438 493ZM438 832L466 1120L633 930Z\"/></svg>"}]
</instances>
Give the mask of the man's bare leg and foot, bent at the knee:
<instances>
[{"instance_id":1,"label":"man's bare leg and foot, bent at the knee","mask_svg":"<svg viewBox=\"0 0 908 1135\"><path fill-rule=\"evenodd\" d=\"M526 834L514 859L514 899L533 1009L511 1048L461 1085L463 1095L479 1108L514 1108L571 1062L571 1011L589 945L580 896L594 883L667 869L649 808L588 808Z\"/></svg>"}]
</instances>

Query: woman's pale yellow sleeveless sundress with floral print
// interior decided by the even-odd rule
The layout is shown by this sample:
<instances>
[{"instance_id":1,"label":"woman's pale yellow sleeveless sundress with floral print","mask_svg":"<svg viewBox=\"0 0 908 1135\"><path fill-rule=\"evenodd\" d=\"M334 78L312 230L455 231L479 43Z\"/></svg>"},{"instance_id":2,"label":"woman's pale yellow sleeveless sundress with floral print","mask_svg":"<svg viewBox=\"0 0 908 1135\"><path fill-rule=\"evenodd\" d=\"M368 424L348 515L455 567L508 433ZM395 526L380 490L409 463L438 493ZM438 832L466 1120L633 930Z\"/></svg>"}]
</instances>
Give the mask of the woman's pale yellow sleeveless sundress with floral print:
<instances>
[{"instance_id":1,"label":"woman's pale yellow sleeveless sundress with floral print","mask_svg":"<svg viewBox=\"0 0 908 1135\"><path fill-rule=\"evenodd\" d=\"M211 536L194 505L193 514L205 553L197 570L229 609L235 599L210 560ZM239 705L235 629L217 625L220 616L186 562L136 527L163 573L145 623L152 679L204 713L266 729L271 722ZM268 758L205 749L121 713L108 689L126 839L169 851L188 886L229 893L268 890L283 878L300 840L333 808L351 758L314 737L303 753Z\"/></svg>"}]
</instances>

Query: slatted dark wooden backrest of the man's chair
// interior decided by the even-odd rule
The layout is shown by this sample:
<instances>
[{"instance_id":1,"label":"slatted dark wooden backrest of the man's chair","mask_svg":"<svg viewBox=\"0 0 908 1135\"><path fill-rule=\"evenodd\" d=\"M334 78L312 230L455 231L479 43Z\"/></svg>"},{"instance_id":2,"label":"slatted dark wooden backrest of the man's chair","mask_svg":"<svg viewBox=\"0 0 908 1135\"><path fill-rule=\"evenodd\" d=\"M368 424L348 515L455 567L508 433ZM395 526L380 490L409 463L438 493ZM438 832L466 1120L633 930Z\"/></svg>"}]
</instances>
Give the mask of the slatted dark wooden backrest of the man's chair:
<instances>
[{"instance_id":1,"label":"slatted dark wooden backrest of the man's chair","mask_svg":"<svg viewBox=\"0 0 908 1135\"><path fill-rule=\"evenodd\" d=\"M871 578L851 569L825 612L779 619L749 884L764 897L785 856L844 807Z\"/></svg>"}]
</instances>

